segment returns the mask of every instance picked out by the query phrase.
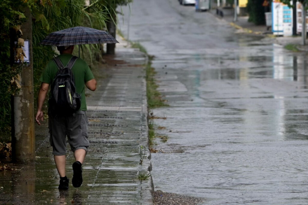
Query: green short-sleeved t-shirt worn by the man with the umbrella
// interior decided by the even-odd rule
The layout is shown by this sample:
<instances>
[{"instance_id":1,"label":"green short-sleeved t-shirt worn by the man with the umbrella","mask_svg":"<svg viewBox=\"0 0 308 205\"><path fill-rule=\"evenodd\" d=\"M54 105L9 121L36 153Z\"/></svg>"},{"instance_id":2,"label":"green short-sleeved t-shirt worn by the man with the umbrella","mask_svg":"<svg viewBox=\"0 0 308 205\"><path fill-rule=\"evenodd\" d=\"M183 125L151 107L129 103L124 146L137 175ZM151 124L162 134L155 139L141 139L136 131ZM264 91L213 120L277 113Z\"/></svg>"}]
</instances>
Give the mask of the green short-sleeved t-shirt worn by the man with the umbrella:
<instances>
[{"instance_id":1,"label":"green short-sleeved t-shirt worn by the man with the umbrella","mask_svg":"<svg viewBox=\"0 0 308 205\"><path fill-rule=\"evenodd\" d=\"M68 61L73 57L71 54L59 55L63 65L67 65ZM43 71L40 81L51 85L52 81L56 77L58 67L54 61L49 61L45 70ZM72 72L75 80L76 92L81 96L81 106L79 110L87 110L86 96L84 94L84 85L87 81L94 79L93 73L89 66L81 58L78 58L73 65Z\"/></svg>"}]
</instances>

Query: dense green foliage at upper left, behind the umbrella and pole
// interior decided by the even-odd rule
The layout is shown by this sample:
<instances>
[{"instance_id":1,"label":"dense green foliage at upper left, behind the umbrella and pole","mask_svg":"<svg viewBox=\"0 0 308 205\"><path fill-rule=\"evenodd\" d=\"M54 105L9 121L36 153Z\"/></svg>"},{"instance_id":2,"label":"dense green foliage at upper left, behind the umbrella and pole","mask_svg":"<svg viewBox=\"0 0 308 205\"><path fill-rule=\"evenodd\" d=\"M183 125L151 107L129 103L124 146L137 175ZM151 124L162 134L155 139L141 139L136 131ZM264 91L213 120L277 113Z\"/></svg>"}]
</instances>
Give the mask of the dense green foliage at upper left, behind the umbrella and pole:
<instances>
[{"instance_id":1,"label":"dense green foliage at upper left, behind the umbrella and pole","mask_svg":"<svg viewBox=\"0 0 308 205\"><path fill-rule=\"evenodd\" d=\"M20 72L20 66L10 65L10 39L20 37L20 25L26 20L24 8L32 13L33 78L34 97L40 86L39 77L57 53L52 46L39 45L43 38L54 31L74 26L87 26L106 30L107 22L116 22L116 9L132 0L2 0L0 3L0 141L10 141L11 96L18 88L11 85L12 78ZM11 33L10 33L11 32ZM22 36L21 36L22 37ZM77 47L77 46L76 46ZM78 48L78 47L77 47ZM85 45L85 60L95 65L92 59L99 60L99 45ZM76 49L78 50L78 49ZM95 58L93 56L95 55ZM91 66L90 66L91 67Z\"/></svg>"}]
</instances>

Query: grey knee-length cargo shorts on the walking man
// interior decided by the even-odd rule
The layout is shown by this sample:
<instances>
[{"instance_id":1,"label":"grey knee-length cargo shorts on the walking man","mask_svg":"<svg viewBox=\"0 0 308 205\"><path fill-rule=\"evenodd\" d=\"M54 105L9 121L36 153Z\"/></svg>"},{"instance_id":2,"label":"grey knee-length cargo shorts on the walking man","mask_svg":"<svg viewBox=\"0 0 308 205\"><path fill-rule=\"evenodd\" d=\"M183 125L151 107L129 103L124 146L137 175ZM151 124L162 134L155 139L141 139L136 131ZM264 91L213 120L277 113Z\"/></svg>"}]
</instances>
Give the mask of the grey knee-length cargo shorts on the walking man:
<instances>
[{"instance_id":1,"label":"grey knee-length cargo shorts on the walking man","mask_svg":"<svg viewBox=\"0 0 308 205\"><path fill-rule=\"evenodd\" d=\"M87 134L88 118L86 111L77 111L72 116L59 116L48 112L49 143L52 146L52 154L61 156L66 154L66 136L75 152L90 146Z\"/></svg>"}]
</instances>

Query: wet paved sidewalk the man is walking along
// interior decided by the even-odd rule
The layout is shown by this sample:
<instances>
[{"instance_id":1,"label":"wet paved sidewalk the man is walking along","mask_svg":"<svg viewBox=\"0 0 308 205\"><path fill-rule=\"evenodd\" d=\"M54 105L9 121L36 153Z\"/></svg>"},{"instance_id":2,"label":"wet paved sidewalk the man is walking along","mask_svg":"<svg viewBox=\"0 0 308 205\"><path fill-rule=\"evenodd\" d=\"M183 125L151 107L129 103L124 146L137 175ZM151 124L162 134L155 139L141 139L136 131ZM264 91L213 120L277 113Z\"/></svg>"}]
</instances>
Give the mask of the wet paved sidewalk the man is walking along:
<instances>
[{"instance_id":1,"label":"wet paved sidewalk the man is walking along","mask_svg":"<svg viewBox=\"0 0 308 205\"><path fill-rule=\"evenodd\" d=\"M59 175L49 145L47 124L36 126L35 164L0 172L0 204L152 204L151 177L138 174L152 166L148 147L146 56L117 45L106 57L107 78L97 79L95 92L86 92L90 148L83 163L83 184L71 185L72 152L67 153L68 191L59 191ZM67 146L69 150L69 146ZM140 152L145 152L140 164ZM149 159L148 159L148 158Z\"/></svg>"}]
</instances>

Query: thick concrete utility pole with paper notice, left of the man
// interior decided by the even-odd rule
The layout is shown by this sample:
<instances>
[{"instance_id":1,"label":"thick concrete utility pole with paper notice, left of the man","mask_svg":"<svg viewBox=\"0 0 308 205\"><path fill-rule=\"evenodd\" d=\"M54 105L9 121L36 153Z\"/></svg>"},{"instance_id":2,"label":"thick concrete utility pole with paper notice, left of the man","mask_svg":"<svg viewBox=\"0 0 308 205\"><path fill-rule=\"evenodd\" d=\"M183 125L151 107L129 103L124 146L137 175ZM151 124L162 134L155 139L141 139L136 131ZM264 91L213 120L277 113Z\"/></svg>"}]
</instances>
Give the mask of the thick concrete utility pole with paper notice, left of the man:
<instances>
[{"instance_id":1,"label":"thick concrete utility pole with paper notice, left of the man","mask_svg":"<svg viewBox=\"0 0 308 205\"><path fill-rule=\"evenodd\" d=\"M12 158L22 163L35 159L32 18L28 7L25 7L25 16L27 21L22 24L21 30L22 38L29 41L30 63L22 67L21 90L14 96L14 109L12 108L14 115Z\"/></svg>"}]
</instances>

